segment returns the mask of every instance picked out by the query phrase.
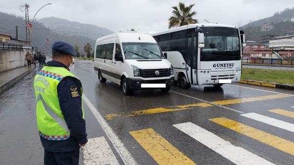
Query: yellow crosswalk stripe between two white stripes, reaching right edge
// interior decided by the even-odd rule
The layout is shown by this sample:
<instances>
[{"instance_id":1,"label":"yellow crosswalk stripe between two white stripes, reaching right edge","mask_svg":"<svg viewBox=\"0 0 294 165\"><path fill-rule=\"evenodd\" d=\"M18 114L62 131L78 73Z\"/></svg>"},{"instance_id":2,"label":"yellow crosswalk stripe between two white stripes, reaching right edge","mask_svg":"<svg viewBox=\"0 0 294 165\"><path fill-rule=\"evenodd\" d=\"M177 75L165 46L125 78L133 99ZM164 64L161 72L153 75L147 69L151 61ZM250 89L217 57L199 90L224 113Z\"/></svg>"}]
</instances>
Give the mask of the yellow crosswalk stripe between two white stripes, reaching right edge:
<instances>
[{"instance_id":1,"label":"yellow crosswalk stripe between two white stripes, reaching right edge","mask_svg":"<svg viewBox=\"0 0 294 165\"><path fill-rule=\"evenodd\" d=\"M252 139L258 140L264 144L268 144L274 148L277 148L281 151L294 155L294 143L286 139L271 135L259 129L250 127L248 125L238 123L236 121L227 119L227 118L214 118L209 119L212 122L220 124L224 127L232 129L236 132L239 132L245 136L248 136Z\"/></svg>"}]
</instances>

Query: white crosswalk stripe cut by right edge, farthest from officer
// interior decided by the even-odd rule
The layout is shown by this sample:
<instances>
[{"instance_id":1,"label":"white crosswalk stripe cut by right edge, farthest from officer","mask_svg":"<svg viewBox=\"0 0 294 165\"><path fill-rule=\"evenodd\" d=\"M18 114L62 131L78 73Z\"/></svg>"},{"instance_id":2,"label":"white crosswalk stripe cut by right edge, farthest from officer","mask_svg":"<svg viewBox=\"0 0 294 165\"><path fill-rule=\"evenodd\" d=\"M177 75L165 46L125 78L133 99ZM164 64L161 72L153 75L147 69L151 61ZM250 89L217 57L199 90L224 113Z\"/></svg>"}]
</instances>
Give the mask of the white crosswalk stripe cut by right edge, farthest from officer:
<instances>
[{"instance_id":1,"label":"white crosswalk stripe cut by right edge, farthest from officer","mask_svg":"<svg viewBox=\"0 0 294 165\"><path fill-rule=\"evenodd\" d=\"M270 118L268 116L260 115L257 113L245 113L245 114L240 114L241 116L245 116L247 118L265 123L265 124L270 124L272 126L276 126L278 128L282 128L291 132L294 132L294 124L284 122L281 120L277 120L274 118Z\"/></svg>"}]
</instances>

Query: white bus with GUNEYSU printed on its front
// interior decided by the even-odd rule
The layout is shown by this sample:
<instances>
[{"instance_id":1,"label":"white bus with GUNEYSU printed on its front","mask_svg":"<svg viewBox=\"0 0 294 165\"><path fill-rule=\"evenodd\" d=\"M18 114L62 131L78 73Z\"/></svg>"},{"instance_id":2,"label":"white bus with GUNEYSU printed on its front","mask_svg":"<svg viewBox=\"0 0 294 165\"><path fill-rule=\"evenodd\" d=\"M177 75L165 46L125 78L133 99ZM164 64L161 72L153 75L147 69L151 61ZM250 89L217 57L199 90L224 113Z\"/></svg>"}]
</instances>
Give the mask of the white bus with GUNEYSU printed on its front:
<instances>
[{"instance_id":1,"label":"white bus with GUNEYSU printed on its front","mask_svg":"<svg viewBox=\"0 0 294 165\"><path fill-rule=\"evenodd\" d=\"M173 65L176 85L188 89L240 81L245 36L238 27L196 23L151 35Z\"/></svg>"}]
</instances>

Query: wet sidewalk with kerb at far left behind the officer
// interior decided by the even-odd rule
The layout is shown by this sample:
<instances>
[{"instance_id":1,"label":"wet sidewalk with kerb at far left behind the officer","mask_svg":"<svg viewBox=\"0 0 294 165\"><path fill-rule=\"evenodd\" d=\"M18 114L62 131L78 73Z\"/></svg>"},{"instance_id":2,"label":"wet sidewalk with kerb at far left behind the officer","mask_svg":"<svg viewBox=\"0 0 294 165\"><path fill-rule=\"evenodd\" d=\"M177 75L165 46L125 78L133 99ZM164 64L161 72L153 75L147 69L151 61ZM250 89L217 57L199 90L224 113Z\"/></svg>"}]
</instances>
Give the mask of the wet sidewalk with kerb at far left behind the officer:
<instances>
[{"instance_id":1,"label":"wet sidewalk with kerb at far left behind the officer","mask_svg":"<svg viewBox=\"0 0 294 165\"><path fill-rule=\"evenodd\" d=\"M23 80L36 67L21 66L0 72L0 95Z\"/></svg>"}]
</instances>

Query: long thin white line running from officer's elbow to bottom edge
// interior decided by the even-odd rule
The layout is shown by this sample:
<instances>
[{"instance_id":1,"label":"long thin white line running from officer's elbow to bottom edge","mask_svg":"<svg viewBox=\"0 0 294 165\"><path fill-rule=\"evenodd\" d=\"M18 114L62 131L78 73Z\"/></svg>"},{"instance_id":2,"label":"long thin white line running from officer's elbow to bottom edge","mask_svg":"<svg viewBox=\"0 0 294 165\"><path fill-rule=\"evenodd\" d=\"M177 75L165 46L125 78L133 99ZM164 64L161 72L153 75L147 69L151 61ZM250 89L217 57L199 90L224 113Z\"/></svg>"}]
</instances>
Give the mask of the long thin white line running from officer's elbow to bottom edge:
<instances>
[{"instance_id":1,"label":"long thin white line running from officer's elbow to bottom edge","mask_svg":"<svg viewBox=\"0 0 294 165\"><path fill-rule=\"evenodd\" d=\"M129 151L125 148L123 143L120 141L119 137L113 132L111 127L106 123L106 121L102 118L98 110L95 108L95 106L89 101L89 99L86 97L85 94L83 94L83 99L93 112L94 116L98 120L99 124L103 128L104 132L106 133L107 137L113 144L116 151L121 156L123 162L125 165L138 165L137 162L134 160L132 155L129 153Z\"/></svg>"}]
</instances>

